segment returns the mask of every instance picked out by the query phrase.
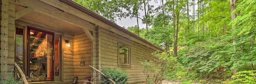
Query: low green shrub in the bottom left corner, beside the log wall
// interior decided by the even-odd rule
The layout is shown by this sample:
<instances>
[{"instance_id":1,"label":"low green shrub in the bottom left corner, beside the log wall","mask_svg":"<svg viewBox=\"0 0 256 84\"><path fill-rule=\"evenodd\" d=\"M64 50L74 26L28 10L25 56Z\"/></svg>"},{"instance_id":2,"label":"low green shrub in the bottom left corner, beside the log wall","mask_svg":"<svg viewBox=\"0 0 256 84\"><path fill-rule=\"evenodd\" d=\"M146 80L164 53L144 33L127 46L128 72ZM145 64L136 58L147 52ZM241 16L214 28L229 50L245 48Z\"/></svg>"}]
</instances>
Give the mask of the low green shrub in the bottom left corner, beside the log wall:
<instances>
[{"instance_id":1,"label":"low green shrub in the bottom left corner, beside the log wall","mask_svg":"<svg viewBox=\"0 0 256 84\"><path fill-rule=\"evenodd\" d=\"M9 75L5 80L0 79L0 84L22 84L20 81L17 81L13 75Z\"/></svg>"}]
</instances>

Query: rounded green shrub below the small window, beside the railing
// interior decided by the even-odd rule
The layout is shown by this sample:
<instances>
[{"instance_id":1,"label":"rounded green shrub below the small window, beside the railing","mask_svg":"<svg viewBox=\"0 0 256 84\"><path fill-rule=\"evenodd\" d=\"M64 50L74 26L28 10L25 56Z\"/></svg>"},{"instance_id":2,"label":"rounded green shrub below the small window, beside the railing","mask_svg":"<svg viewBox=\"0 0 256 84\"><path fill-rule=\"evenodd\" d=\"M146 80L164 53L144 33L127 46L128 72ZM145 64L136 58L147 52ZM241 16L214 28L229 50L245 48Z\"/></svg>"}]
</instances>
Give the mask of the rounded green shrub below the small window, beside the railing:
<instances>
[{"instance_id":1,"label":"rounded green shrub below the small window, beside the railing","mask_svg":"<svg viewBox=\"0 0 256 84\"><path fill-rule=\"evenodd\" d=\"M116 84L128 84L128 75L121 70L102 70L101 72L105 74L108 78L112 79ZM101 83L110 84L110 81L108 81L105 77L101 76Z\"/></svg>"}]
</instances>

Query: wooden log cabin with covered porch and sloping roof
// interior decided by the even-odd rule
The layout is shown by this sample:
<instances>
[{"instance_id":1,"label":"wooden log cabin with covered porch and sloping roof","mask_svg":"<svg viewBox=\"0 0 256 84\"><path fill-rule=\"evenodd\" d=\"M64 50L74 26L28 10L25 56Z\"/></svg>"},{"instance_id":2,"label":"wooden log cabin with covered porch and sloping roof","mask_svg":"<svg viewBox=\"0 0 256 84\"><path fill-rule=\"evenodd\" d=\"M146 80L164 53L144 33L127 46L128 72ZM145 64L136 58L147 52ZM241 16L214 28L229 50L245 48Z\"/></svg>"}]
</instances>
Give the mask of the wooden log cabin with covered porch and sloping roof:
<instances>
[{"instance_id":1,"label":"wooden log cabin with covered porch and sloping roof","mask_svg":"<svg viewBox=\"0 0 256 84\"><path fill-rule=\"evenodd\" d=\"M1 77L10 75L17 61L31 83L70 84L76 76L91 76L88 65L120 69L130 84L143 83L141 62L163 50L71 0L0 4Z\"/></svg>"}]
</instances>

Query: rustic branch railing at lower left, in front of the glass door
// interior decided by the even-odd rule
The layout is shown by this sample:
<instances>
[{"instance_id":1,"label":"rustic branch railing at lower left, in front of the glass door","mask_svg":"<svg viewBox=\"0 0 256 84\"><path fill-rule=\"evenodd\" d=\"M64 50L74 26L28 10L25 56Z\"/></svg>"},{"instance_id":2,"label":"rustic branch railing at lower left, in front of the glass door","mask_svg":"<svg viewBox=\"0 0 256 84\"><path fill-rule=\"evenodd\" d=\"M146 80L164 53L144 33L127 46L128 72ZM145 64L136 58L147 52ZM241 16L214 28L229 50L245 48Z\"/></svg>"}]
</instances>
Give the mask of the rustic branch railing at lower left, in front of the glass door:
<instances>
[{"instance_id":1,"label":"rustic branch railing at lower left, in front of the glass door","mask_svg":"<svg viewBox=\"0 0 256 84\"><path fill-rule=\"evenodd\" d=\"M21 81L22 84L29 84L31 82L30 80L26 79L24 70L22 70L19 62L17 61L14 61L14 72L15 72L15 79Z\"/></svg>"}]
</instances>

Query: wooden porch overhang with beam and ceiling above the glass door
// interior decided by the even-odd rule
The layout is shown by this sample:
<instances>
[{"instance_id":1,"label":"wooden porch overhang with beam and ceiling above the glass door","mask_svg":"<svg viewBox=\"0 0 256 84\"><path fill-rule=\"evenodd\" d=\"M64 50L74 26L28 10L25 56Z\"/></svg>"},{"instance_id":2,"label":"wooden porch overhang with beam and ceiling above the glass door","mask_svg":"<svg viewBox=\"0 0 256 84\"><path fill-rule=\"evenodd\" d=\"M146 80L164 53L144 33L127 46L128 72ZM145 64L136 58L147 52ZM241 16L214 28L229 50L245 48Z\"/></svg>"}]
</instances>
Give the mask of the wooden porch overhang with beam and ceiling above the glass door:
<instances>
[{"instance_id":1,"label":"wooden porch overhang with beam and ceiling above the glass door","mask_svg":"<svg viewBox=\"0 0 256 84\"><path fill-rule=\"evenodd\" d=\"M69 34L85 32L88 36L92 36L89 31L95 28L94 24L42 1L9 0L9 2L16 4L15 19L60 29Z\"/></svg>"}]
</instances>

